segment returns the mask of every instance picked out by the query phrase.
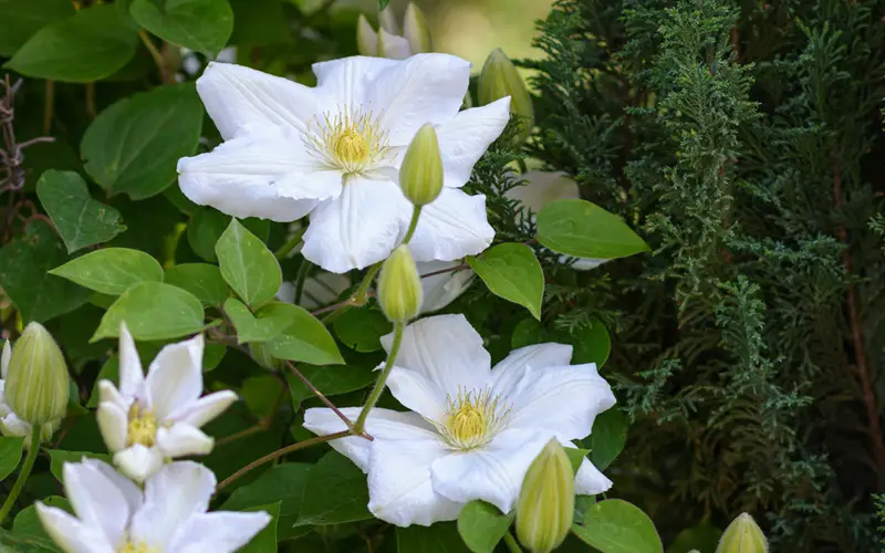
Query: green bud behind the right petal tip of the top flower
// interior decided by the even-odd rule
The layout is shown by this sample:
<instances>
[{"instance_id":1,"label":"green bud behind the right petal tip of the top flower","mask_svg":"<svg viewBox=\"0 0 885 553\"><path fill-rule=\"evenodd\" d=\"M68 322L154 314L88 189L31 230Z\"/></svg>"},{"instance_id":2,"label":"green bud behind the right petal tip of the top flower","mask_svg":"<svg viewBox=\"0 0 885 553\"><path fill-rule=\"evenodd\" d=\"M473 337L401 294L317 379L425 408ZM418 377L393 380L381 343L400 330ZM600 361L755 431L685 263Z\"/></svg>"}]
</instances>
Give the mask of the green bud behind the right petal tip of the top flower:
<instances>
[{"instance_id":1,"label":"green bud behind the right petal tip of the top flower","mask_svg":"<svg viewBox=\"0 0 885 553\"><path fill-rule=\"evenodd\" d=\"M510 113L520 118L521 135L529 134L534 124L532 98L516 65L500 48L490 53L482 65L477 96L480 105L510 96Z\"/></svg>"}]
</instances>

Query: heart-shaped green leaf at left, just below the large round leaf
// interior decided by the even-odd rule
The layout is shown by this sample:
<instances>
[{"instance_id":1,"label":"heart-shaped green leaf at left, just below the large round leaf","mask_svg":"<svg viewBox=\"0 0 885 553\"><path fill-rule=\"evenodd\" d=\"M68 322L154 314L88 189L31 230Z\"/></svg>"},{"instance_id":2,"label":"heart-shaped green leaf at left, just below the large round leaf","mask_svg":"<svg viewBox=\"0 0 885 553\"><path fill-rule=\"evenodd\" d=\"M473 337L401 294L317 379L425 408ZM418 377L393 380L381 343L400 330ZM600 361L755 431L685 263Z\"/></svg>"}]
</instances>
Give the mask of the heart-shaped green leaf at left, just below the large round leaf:
<instances>
[{"instance_id":1,"label":"heart-shaped green leaf at left, just below the large round leaf","mask_svg":"<svg viewBox=\"0 0 885 553\"><path fill-rule=\"evenodd\" d=\"M67 253L106 242L126 230L119 211L92 199L86 182L74 171L43 173L37 196L62 236Z\"/></svg>"}]
</instances>

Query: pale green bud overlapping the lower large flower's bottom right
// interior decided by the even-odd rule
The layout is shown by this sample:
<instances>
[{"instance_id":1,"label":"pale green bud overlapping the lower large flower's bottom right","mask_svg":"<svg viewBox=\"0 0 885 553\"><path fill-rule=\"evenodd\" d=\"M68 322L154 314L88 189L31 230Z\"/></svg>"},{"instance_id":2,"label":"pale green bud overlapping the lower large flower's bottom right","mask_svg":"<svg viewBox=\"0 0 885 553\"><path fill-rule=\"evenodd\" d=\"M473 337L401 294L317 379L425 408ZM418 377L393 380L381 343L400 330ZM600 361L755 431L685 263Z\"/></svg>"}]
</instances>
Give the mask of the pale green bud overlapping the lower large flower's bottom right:
<instances>
[{"instance_id":1,"label":"pale green bud overlapping the lower large flower's bottom right","mask_svg":"<svg viewBox=\"0 0 885 553\"><path fill-rule=\"evenodd\" d=\"M517 504L517 535L532 553L556 549L572 528L574 472L569 456L552 439L532 461Z\"/></svg>"}]
</instances>

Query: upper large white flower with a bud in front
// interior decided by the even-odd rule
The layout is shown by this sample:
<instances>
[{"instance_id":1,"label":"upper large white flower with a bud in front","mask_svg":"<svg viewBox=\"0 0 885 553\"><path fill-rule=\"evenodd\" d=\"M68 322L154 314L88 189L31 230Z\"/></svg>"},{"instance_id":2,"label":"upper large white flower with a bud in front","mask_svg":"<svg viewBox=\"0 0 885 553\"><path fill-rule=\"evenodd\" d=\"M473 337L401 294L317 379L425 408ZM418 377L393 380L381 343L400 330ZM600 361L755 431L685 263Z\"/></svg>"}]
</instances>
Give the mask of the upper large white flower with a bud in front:
<instances>
[{"instance_id":1,"label":"upper large white flower with a bud in front","mask_svg":"<svg viewBox=\"0 0 885 553\"><path fill-rule=\"evenodd\" d=\"M448 54L405 61L345 58L313 65L314 88L212 63L197 81L225 143L178 161L184 194L236 217L292 221L311 213L302 253L336 273L385 259L412 205L398 185L406 148L436 126L445 188L421 211L418 261L479 253L494 237L485 196L460 190L503 131L510 98L458 113L470 64Z\"/></svg>"}]
</instances>

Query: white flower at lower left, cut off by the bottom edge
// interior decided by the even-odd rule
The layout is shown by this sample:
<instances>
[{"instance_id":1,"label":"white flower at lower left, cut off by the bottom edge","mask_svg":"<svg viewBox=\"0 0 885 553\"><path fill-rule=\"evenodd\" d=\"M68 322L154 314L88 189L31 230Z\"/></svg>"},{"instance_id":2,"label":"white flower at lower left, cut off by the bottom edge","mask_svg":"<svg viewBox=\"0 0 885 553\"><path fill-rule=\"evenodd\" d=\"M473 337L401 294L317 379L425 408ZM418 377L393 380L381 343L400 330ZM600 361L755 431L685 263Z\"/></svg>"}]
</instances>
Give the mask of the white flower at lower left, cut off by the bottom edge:
<instances>
[{"instance_id":1,"label":"white flower at lower left, cut off by the bottom edge","mask_svg":"<svg viewBox=\"0 0 885 553\"><path fill-rule=\"evenodd\" d=\"M76 517L43 503L37 514L64 553L232 553L268 525L266 512L207 513L215 474L191 461L163 467L144 492L104 462L64 463Z\"/></svg>"}]
</instances>

